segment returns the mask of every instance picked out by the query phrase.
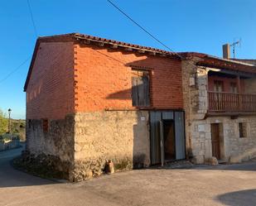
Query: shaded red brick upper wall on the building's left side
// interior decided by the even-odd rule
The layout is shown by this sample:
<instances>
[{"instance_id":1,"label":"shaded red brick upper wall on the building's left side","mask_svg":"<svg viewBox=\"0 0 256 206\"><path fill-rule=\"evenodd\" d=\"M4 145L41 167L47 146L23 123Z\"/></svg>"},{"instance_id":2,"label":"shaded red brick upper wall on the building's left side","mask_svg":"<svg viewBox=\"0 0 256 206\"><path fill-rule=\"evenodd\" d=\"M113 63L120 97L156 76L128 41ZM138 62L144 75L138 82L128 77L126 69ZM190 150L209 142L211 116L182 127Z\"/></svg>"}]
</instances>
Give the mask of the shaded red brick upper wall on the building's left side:
<instances>
[{"instance_id":1,"label":"shaded red brick upper wall on the building's left side","mask_svg":"<svg viewBox=\"0 0 256 206\"><path fill-rule=\"evenodd\" d=\"M73 42L41 43L27 86L27 119L74 113Z\"/></svg>"}]
</instances>

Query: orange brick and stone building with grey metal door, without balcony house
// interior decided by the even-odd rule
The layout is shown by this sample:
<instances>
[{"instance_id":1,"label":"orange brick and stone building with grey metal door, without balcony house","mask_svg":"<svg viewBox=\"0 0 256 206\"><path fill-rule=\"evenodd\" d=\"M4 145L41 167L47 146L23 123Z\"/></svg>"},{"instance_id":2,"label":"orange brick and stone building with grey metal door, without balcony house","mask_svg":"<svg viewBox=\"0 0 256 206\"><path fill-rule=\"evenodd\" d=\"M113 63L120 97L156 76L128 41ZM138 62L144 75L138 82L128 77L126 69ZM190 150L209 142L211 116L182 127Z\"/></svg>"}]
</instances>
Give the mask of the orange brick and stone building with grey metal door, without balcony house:
<instances>
[{"instance_id":1,"label":"orange brick and stone building with grey metal door, without balcony house","mask_svg":"<svg viewBox=\"0 0 256 206\"><path fill-rule=\"evenodd\" d=\"M181 60L151 47L40 37L24 90L27 151L71 181L186 158Z\"/></svg>"}]
</instances>

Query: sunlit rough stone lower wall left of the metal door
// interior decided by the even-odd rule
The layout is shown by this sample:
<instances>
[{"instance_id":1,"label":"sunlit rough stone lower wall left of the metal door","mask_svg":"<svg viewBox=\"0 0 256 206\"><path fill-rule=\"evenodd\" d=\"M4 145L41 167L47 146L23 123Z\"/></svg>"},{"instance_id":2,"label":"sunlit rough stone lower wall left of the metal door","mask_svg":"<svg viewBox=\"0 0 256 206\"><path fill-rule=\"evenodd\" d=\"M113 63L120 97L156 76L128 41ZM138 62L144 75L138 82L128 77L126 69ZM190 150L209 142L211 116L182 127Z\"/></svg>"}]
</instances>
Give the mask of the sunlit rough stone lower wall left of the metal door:
<instances>
[{"instance_id":1,"label":"sunlit rough stone lower wall left of the metal door","mask_svg":"<svg viewBox=\"0 0 256 206\"><path fill-rule=\"evenodd\" d=\"M75 114L74 180L100 175L106 160L116 171L150 164L147 111Z\"/></svg>"}]
</instances>

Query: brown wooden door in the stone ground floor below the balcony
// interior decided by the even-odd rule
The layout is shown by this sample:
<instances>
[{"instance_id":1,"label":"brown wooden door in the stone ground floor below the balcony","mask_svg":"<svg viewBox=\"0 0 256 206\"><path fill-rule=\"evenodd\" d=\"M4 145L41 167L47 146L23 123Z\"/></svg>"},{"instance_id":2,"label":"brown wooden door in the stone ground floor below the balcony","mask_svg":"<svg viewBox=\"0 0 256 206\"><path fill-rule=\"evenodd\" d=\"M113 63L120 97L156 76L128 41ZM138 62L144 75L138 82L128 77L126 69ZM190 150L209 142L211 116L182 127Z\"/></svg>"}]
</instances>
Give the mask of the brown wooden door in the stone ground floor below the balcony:
<instances>
[{"instance_id":1,"label":"brown wooden door in the stone ground floor below the balcony","mask_svg":"<svg viewBox=\"0 0 256 206\"><path fill-rule=\"evenodd\" d=\"M220 160L220 124L210 125L212 156Z\"/></svg>"}]
</instances>

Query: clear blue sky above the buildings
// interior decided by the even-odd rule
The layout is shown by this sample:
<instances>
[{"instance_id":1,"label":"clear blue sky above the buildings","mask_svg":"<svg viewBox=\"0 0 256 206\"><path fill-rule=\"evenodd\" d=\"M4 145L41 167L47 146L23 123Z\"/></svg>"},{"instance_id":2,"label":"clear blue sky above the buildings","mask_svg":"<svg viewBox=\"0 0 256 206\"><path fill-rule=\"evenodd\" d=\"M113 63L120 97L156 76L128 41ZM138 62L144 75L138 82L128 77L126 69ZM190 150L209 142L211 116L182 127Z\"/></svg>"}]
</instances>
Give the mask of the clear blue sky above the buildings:
<instances>
[{"instance_id":1,"label":"clear blue sky above the buildings","mask_svg":"<svg viewBox=\"0 0 256 206\"><path fill-rule=\"evenodd\" d=\"M221 45L242 38L238 58L256 59L255 0L113 0L172 50L221 56ZM163 48L105 0L30 0L39 36L80 32ZM27 0L0 2L0 108L24 118L23 85L36 36Z\"/></svg>"}]
</instances>

